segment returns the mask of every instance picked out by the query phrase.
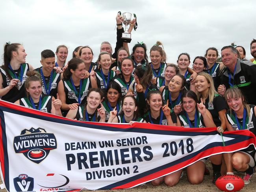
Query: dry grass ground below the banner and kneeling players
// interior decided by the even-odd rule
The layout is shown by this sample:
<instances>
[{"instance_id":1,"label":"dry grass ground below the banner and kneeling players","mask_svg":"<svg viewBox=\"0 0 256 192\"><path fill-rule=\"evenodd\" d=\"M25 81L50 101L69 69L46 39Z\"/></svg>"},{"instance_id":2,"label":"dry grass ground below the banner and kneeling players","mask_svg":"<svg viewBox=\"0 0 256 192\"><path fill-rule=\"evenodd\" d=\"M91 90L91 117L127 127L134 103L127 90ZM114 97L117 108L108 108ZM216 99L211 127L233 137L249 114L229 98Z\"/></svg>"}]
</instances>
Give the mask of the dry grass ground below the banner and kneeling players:
<instances>
[{"instance_id":1,"label":"dry grass ground below the banner and kneeling players","mask_svg":"<svg viewBox=\"0 0 256 192\"><path fill-rule=\"evenodd\" d=\"M199 185L191 185L187 181L186 174L180 179L180 182L173 187L168 187L165 184L160 186L152 186L150 183L146 185L137 186L131 189L117 189L114 192L218 192L220 191L215 185L211 183L212 169L209 161L206 162L206 167L210 170L210 175L204 176L204 181ZM239 175L242 177L242 175ZM249 185L240 190L241 192L256 192L256 174L253 175L252 181ZM2 183L2 181L0 181ZM97 192L113 192L113 190L98 190ZM7 192L6 189L0 190L0 192ZM88 190L83 190L83 192L89 192Z\"/></svg>"}]
</instances>

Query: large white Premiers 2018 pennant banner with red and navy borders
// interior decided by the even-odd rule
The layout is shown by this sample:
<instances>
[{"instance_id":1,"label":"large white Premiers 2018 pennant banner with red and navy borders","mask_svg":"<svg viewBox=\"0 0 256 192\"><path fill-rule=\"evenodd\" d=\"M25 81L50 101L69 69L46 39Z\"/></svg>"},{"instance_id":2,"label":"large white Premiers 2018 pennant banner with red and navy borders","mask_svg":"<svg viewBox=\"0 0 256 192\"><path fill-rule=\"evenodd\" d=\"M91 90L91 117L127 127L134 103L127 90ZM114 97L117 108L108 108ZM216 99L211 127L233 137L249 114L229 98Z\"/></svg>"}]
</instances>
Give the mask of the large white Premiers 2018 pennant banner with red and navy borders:
<instances>
[{"instance_id":1,"label":"large white Premiers 2018 pennant banner with red and navy borders","mask_svg":"<svg viewBox=\"0 0 256 192\"><path fill-rule=\"evenodd\" d=\"M256 143L250 131L86 123L2 101L0 118L10 192L130 188Z\"/></svg>"}]
</instances>

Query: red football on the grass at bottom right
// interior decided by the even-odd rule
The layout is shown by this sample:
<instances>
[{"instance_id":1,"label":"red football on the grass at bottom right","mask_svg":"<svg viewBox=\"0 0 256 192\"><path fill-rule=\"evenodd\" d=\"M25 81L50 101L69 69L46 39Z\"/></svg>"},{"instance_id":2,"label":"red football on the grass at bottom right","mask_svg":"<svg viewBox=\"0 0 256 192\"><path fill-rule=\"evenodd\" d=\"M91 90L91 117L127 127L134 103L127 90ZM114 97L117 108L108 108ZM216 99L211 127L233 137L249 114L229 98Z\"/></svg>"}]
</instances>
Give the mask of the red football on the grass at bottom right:
<instances>
[{"instance_id":1,"label":"red football on the grass at bottom right","mask_svg":"<svg viewBox=\"0 0 256 192\"><path fill-rule=\"evenodd\" d=\"M236 175L223 175L216 180L215 185L222 191L239 191L245 186L243 179Z\"/></svg>"}]
</instances>

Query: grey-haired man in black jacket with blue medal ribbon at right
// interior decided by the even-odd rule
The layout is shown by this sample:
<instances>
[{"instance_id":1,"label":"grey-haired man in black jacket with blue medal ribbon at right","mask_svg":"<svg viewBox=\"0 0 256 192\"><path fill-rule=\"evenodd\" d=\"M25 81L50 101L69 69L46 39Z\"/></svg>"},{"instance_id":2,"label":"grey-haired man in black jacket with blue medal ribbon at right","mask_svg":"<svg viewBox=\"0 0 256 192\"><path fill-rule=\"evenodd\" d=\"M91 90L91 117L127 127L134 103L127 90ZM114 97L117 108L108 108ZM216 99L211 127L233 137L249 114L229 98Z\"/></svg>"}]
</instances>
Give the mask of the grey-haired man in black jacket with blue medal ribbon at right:
<instances>
[{"instance_id":1,"label":"grey-haired man in black jacket with blue medal ribbon at right","mask_svg":"<svg viewBox=\"0 0 256 192\"><path fill-rule=\"evenodd\" d=\"M221 49L221 58L226 68L220 79L218 93L223 96L226 89L237 87L249 104L256 105L256 65L238 59L237 50L233 46L224 46Z\"/></svg>"}]
</instances>

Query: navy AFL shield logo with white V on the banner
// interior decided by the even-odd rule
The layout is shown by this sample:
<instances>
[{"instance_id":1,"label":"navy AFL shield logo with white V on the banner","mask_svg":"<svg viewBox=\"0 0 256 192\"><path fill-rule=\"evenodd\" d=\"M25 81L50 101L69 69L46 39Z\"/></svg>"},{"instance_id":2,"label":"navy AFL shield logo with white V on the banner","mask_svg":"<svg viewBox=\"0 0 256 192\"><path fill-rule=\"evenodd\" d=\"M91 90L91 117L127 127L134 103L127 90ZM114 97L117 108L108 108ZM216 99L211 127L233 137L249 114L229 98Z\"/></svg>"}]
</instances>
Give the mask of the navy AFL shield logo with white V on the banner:
<instances>
[{"instance_id":1,"label":"navy AFL shield logo with white V on the banner","mask_svg":"<svg viewBox=\"0 0 256 192\"><path fill-rule=\"evenodd\" d=\"M13 179L13 184L17 192L32 192L34 188L34 179L32 177L28 177L27 174L20 174L18 177Z\"/></svg>"}]
</instances>

